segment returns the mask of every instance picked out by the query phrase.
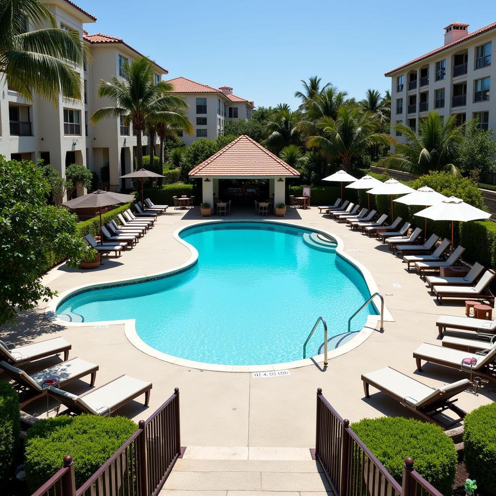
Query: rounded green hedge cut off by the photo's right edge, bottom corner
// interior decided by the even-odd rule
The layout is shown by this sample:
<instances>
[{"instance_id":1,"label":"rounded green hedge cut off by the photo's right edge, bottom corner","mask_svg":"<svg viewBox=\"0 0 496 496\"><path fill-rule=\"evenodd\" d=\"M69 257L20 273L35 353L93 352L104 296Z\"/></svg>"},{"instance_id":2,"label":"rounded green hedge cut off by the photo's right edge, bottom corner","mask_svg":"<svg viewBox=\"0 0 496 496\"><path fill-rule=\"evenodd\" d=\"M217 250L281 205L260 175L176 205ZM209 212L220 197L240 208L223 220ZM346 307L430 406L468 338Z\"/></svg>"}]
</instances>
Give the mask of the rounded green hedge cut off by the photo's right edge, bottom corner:
<instances>
[{"instance_id":1,"label":"rounded green hedge cut off by the photo's right edge, bottom corner","mask_svg":"<svg viewBox=\"0 0 496 496\"><path fill-rule=\"evenodd\" d=\"M496 494L496 404L469 413L463 422L465 466L488 495Z\"/></svg>"}]
</instances>

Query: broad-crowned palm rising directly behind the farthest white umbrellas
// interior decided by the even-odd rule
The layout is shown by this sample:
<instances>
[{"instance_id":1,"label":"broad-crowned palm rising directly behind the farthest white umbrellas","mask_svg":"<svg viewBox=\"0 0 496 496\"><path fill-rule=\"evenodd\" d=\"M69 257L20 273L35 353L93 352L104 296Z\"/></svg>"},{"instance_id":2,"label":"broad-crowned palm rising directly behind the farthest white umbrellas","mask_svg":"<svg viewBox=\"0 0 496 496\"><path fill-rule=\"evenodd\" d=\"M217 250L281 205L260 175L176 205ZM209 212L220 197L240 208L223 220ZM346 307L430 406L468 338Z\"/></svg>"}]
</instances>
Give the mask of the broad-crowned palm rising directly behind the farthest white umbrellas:
<instances>
[{"instance_id":1,"label":"broad-crowned palm rising directly behind the farthest white umbrellas","mask_svg":"<svg viewBox=\"0 0 496 496\"><path fill-rule=\"evenodd\" d=\"M341 107L336 119L323 117L315 125L321 135L310 136L309 148L317 148L327 158L337 158L345 170L374 144L391 144L396 140L389 134L377 132L377 119L358 108Z\"/></svg>"}]
</instances>

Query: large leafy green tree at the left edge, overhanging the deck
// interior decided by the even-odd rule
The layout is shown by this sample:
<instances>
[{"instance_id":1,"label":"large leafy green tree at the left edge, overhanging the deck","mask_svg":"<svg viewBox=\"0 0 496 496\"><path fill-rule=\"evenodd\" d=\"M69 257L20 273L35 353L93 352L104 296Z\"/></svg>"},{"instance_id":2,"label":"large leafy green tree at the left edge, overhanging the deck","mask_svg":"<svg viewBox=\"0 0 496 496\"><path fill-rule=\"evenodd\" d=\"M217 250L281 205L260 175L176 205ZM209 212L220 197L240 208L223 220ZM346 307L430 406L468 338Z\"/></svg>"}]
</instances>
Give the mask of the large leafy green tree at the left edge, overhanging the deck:
<instances>
[{"instance_id":1,"label":"large leafy green tree at the left edge, overhanging the deck","mask_svg":"<svg viewBox=\"0 0 496 496\"><path fill-rule=\"evenodd\" d=\"M54 291L42 284L53 253L75 261L88 254L76 217L47 205L50 185L29 161L0 156L0 325L22 310L48 301Z\"/></svg>"}]
</instances>

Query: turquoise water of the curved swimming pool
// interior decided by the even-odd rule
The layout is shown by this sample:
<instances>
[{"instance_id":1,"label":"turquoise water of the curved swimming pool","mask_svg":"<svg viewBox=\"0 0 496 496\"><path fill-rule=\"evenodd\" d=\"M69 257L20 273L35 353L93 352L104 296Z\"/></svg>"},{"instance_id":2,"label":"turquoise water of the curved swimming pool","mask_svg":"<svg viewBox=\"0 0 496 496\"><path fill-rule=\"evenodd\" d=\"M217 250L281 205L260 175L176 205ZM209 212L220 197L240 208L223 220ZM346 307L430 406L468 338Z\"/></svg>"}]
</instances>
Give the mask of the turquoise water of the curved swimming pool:
<instances>
[{"instance_id":1,"label":"turquoise water of the curved swimming pool","mask_svg":"<svg viewBox=\"0 0 496 496\"><path fill-rule=\"evenodd\" d=\"M335 250L308 246L311 231L269 223L217 223L181 238L199 253L190 269L155 281L101 288L57 309L73 321L136 319L136 331L161 352L198 362L265 365L300 360L322 315L329 337L370 296L362 274ZM139 248L137 248L139 249ZM157 266L157 271L160 267ZM373 306L353 320L359 330ZM309 342L318 354L323 332ZM337 341L336 341L337 342Z\"/></svg>"}]
</instances>

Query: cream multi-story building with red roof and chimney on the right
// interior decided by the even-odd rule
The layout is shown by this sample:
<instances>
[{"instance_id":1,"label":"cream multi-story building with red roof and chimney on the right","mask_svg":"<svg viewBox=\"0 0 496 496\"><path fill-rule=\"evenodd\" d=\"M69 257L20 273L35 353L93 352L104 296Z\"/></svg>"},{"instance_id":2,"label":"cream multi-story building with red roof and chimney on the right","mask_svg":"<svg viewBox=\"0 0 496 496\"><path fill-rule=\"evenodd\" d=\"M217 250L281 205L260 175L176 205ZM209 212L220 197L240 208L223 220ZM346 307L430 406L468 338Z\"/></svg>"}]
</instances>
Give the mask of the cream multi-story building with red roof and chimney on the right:
<instances>
[{"instance_id":1,"label":"cream multi-story building with red roof and chimney on the right","mask_svg":"<svg viewBox=\"0 0 496 496\"><path fill-rule=\"evenodd\" d=\"M459 124L476 119L481 128L496 129L496 98L490 98L491 85L496 87L496 22L472 33L468 27L449 24L442 47L385 73L391 78L391 126L418 130L419 120L434 110L444 119L456 115Z\"/></svg>"}]
</instances>

